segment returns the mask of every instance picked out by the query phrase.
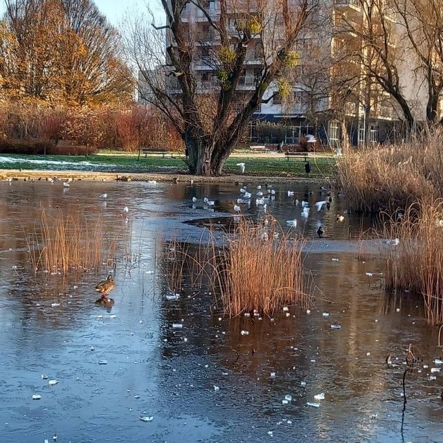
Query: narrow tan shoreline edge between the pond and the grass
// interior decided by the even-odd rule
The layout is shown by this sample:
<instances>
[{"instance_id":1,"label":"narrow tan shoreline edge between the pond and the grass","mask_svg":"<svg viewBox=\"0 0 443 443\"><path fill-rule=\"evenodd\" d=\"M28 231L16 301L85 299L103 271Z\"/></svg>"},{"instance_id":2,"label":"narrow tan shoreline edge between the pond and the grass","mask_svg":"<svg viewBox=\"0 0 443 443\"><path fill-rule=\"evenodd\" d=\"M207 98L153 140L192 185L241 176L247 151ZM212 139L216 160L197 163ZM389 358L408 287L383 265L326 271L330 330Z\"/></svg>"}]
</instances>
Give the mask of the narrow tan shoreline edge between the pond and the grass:
<instances>
[{"instance_id":1,"label":"narrow tan shoreline edge between the pond and the grass","mask_svg":"<svg viewBox=\"0 0 443 443\"><path fill-rule=\"evenodd\" d=\"M183 174L182 172L98 172L98 171L75 171L75 170L0 170L0 180L8 179L21 181L42 181L46 179L72 179L75 181L158 181L172 183L332 183L331 177L266 177L255 175L223 175L219 177L204 177Z\"/></svg>"}]
</instances>

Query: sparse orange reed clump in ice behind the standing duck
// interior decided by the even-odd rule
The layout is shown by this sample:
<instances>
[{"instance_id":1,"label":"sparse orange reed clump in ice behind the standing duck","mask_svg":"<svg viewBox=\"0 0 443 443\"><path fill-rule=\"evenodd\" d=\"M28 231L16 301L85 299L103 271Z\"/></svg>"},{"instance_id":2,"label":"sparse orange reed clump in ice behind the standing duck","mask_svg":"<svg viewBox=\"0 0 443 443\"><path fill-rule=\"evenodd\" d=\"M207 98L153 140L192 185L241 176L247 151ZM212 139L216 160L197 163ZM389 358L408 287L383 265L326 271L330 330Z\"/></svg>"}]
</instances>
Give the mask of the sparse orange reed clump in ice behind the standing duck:
<instances>
[{"instance_id":1,"label":"sparse orange reed clump in ice behind the standing duck","mask_svg":"<svg viewBox=\"0 0 443 443\"><path fill-rule=\"evenodd\" d=\"M35 272L97 271L103 262L114 262L116 251L112 236L105 237L102 218L89 219L77 210L48 214L42 209L27 242Z\"/></svg>"}]
</instances>

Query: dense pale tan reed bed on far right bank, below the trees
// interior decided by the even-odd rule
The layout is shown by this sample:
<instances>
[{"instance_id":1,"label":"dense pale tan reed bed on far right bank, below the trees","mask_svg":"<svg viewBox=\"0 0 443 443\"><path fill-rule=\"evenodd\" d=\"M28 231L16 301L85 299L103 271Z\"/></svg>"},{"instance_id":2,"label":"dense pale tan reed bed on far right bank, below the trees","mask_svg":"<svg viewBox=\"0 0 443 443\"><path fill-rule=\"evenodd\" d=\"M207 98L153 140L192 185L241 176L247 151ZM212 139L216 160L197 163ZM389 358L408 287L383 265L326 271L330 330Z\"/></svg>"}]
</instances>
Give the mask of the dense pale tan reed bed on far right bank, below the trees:
<instances>
[{"instance_id":1,"label":"dense pale tan reed bed on far right bank, below the trees","mask_svg":"<svg viewBox=\"0 0 443 443\"><path fill-rule=\"evenodd\" d=\"M345 150L338 161L338 186L349 207L364 213L407 208L443 196L443 132L408 143Z\"/></svg>"}]
</instances>

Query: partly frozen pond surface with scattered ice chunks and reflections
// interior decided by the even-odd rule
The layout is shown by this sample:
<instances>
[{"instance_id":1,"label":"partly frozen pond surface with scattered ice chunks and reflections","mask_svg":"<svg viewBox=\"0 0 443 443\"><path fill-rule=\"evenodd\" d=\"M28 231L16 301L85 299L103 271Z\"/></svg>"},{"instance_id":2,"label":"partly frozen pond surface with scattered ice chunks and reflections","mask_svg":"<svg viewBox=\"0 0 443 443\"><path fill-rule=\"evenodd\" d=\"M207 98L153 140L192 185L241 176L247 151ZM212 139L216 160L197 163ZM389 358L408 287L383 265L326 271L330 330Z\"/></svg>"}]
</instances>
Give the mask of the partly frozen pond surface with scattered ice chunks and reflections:
<instances>
[{"instance_id":1,"label":"partly frozen pond surface with scattered ice chunks and reflections","mask_svg":"<svg viewBox=\"0 0 443 443\"><path fill-rule=\"evenodd\" d=\"M311 313L289 307L289 316L258 320L224 317L208 294L167 300L155 257L161 233L197 242L206 219L233 215L238 187L0 183L0 442L51 442L53 435L62 443L442 442L442 374L431 373L442 351L422 320L421 300L386 296L383 261L356 260L340 246L372 221L345 215L337 222L345 206L334 194L331 209L316 213L314 202L325 198L318 185L274 189L268 209L280 222L296 218L312 238L320 223L329 238L315 239L317 253L305 260L318 286ZM312 192L307 219L288 190L300 201ZM104 192L105 201L98 198ZM215 201L213 212L204 197ZM41 206L82 208L130 234L138 261L117 263L114 305L94 303L105 269L66 278L30 272L24 232ZM255 199L242 209L257 217ZM407 374L402 413L410 343L420 361ZM388 354L397 367L388 368ZM320 393L325 398L314 399Z\"/></svg>"}]
</instances>

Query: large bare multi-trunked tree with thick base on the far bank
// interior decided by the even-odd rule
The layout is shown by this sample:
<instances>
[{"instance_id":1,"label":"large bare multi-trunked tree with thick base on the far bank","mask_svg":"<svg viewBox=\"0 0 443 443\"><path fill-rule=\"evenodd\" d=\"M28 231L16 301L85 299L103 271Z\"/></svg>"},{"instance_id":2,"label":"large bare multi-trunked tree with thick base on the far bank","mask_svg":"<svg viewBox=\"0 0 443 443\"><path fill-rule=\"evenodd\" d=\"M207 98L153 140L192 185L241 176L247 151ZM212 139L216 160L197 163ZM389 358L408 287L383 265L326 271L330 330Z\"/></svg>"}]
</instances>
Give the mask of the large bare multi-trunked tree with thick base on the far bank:
<instances>
[{"instance_id":1,"label":"large bare multi-trunked tree with thick base on the far bank","mask_svg":"<svg viewBox=\"0 0 443 443\"><path fill-rule=\"evenodd\" d=\"M262 100L293 95L296 40L309 35L315 0L161 3L165 26L146 17L128 24L140 94L181 134L190 172L219 175ZM245 82L251 64L253 82Z\"/></svg>"}]
</instances>

